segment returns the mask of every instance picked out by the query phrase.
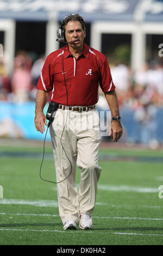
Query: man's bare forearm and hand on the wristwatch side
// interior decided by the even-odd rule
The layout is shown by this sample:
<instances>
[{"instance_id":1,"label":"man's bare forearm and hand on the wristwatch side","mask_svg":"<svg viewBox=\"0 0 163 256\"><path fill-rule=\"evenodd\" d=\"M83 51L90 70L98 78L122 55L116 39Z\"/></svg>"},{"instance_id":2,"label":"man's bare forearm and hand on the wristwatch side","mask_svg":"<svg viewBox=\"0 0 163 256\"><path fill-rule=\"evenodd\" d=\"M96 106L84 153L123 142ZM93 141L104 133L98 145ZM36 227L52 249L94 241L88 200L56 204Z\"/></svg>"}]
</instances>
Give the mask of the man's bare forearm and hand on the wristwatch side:
<instances>
[{"instance_id":1,"label":"man's bare forearm and hand on the wristwatch side","mask_svg":"<svg viewBox=\"0 0 163 256\"><path fill-rule=\"evenodd\" d=\"M117 94L115 90L111 92L105 92L106 101L108 102L108 105L111 110L112 117L117 117L117 115L120 115L119 106L118 106L118 99ZM112 121L110 126L110 135L113 135L113 141L117 142L118 139L122 136L122 125L118 121Z\"/></svg>"}]
</instances>

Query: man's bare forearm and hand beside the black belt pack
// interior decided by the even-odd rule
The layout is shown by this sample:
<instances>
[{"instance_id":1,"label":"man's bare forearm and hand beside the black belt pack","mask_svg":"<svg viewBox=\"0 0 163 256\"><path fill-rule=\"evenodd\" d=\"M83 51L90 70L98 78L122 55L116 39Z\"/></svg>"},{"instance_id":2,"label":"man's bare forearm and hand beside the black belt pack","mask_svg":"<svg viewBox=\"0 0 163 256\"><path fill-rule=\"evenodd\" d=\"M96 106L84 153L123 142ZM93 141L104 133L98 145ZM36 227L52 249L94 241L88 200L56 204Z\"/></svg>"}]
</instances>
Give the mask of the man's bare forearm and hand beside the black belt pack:
<instances>
[{"instance_id":1,"label":"man's bare forearm and hand beside the black belt pack","mask_svg":"<svg viewBox=\"0 0 163 256\"><path fill-rule=\"evenodd\" d=\"M49 92L44 90L38 90L36 95L36 108L35 108L35 127L36 130L41 133L45 131L44 123L47 124L46 116L43 114L43 108L48 101Z\"/></svg>"}]
</instances>

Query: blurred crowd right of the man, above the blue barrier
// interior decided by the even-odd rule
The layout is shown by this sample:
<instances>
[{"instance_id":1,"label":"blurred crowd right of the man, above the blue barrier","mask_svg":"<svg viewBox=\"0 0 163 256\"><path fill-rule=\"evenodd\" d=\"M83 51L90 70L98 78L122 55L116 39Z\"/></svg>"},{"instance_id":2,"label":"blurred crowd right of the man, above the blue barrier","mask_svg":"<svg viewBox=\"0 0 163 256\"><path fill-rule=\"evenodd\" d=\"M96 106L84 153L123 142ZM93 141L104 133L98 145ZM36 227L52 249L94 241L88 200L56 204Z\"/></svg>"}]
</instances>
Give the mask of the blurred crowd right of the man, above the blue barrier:
<instances>
[{"instance_id":1,"label":"blurred crowd right of the man, above the blue barrier","mask_svg":"<svg viewBox=\"0 0 163 256\"><path fill-rule=\"evenodd\" d=\"M111 74L121 106L136 109L150 103L163 107L163 62L152 60L135 72L119 64L111 68Z\"/></svg>"}]
</instances>

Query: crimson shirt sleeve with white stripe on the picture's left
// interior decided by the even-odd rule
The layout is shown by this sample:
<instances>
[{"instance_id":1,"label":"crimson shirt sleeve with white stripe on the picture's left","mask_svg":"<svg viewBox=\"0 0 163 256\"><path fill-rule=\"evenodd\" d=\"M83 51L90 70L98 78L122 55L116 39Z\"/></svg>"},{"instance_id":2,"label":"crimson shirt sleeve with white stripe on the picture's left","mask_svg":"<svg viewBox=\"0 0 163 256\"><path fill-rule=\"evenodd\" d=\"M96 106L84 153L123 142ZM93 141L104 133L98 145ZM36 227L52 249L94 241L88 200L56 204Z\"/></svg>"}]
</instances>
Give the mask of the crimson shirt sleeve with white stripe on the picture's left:
<instances>
[{"instance_id":1,"label":"crimson shirt sleeve with white stripe on the picture's left","mask_svg":"<svg viewBox=\"0 0 163 256\"><path fill-rule=\"evenodd\" d=\"M41 75L36 86L37 89L45 90L46 92L49 92L53 89L53 75L51 69L51 59L48 56L41 70Z\"/></svg>"}]
</instances>

